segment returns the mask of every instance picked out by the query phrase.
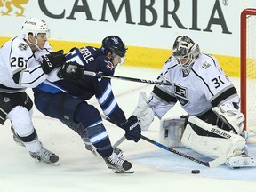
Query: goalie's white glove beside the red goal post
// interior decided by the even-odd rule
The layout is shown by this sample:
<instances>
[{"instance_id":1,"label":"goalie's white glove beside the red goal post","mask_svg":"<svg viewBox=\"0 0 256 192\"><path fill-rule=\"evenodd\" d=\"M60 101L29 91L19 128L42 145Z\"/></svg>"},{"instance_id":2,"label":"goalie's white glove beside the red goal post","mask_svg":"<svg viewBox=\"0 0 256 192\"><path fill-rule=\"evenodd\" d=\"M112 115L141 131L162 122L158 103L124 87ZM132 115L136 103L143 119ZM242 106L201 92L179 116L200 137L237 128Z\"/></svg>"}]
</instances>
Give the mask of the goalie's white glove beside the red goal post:
<instances>
[{"instance_id":1,"label":"goalie's white glove beside the red goal post","mask_svg":"<svg viewBox=\"0 0 256 192\"><path fill-rule=\"evenodd\" d=\"M244 128L244 114L240 113L238 110L228 110L223 111L218 107L212 108L212 111L220 117L220 120L227 124L230 131L235 134L241 134Z\"/></svg>"}]
</instances>

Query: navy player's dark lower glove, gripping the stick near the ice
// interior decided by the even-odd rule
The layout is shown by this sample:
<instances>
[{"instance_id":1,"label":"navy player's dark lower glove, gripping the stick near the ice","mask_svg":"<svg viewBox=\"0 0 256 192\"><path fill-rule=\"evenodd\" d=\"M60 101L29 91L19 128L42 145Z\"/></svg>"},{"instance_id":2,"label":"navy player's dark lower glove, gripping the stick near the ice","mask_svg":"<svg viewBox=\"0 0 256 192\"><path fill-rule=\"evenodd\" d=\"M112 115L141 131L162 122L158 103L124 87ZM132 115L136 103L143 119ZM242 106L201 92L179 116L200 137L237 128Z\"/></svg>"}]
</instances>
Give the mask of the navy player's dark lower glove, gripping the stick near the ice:
<instances>
[{"instance_id":1,"label":"navy player's dark lower glove, gripping the stick near the ice","mask_svg":"<svg viewBox=\"0 0 256 192\"><path fill-rule=\"evenodd\" d=\"M124 124L120 124L120 127L125 130L125 138L127 140L134 140L135 142L140 140L140 123L136 116L130 116Z\"/></svg>"}]
</instances>

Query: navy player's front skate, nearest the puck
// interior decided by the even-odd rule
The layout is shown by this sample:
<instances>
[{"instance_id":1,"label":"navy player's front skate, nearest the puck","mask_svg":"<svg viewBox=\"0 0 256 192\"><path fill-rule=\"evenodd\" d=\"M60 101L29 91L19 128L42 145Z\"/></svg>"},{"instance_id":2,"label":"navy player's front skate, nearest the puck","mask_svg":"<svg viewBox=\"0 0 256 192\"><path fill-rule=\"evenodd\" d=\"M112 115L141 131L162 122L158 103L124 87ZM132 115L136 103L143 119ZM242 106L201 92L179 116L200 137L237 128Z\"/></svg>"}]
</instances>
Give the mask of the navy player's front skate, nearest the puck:
<instances>
[{"instance_id":1,"label":"navy player's front skate, nearest the puck","mask_svg":"<svg viewBox=\"0 0 256 192\"><path fill-rule=\"evenodd\" d=\"M132 164L124 160L121 156L117 156L115 152L111 156L103 157L109 169L115 173L133 173L130 171Z\"/></svg>"}]
</instances>

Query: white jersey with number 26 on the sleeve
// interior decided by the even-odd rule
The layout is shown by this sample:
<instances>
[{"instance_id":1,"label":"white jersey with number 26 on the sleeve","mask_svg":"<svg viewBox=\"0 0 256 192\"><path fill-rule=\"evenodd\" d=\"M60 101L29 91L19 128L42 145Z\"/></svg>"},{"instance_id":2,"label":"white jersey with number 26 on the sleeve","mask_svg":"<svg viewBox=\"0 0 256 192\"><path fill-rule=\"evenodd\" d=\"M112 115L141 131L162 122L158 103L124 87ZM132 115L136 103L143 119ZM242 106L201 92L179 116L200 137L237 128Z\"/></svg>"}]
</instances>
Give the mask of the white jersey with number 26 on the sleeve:
<instances>
[{"instance_id":1,"label":"white jersey with number 26 on the sleeve","mask_svg":"<svg viewBox=\"0 0 256 192\"><path fill-rule=\"evenodd\" d=\"M36 87L48 76L39 61L41 56L52 52L46 42L44 50L32 52L21 36L6 42L0 49L0 92L24 92L27 87Z\"/></svg>"}]
</instances>

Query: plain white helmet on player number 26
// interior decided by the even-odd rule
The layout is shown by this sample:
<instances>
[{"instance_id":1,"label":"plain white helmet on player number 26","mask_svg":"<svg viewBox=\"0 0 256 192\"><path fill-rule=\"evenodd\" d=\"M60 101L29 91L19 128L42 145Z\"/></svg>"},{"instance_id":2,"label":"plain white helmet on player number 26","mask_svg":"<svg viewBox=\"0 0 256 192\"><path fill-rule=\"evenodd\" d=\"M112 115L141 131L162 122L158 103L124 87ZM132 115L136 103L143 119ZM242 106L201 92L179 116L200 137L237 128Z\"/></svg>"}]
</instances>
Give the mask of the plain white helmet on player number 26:
<instances>
[{"instance_id":1,"label":"plain white helmet on player number 26","mask_svg":"<svg viewBox=\"0 0 256 192\"><path fill-rule=\"evenodd\" d=\"M46 37L50 37L50 29L44 20L39 20L37 18L29 18L24 22L21 28L21 34L26 40L28 40L28 34L32 33L37 39L38 33L45 33Z\"/></svg>"}]
</instances>

